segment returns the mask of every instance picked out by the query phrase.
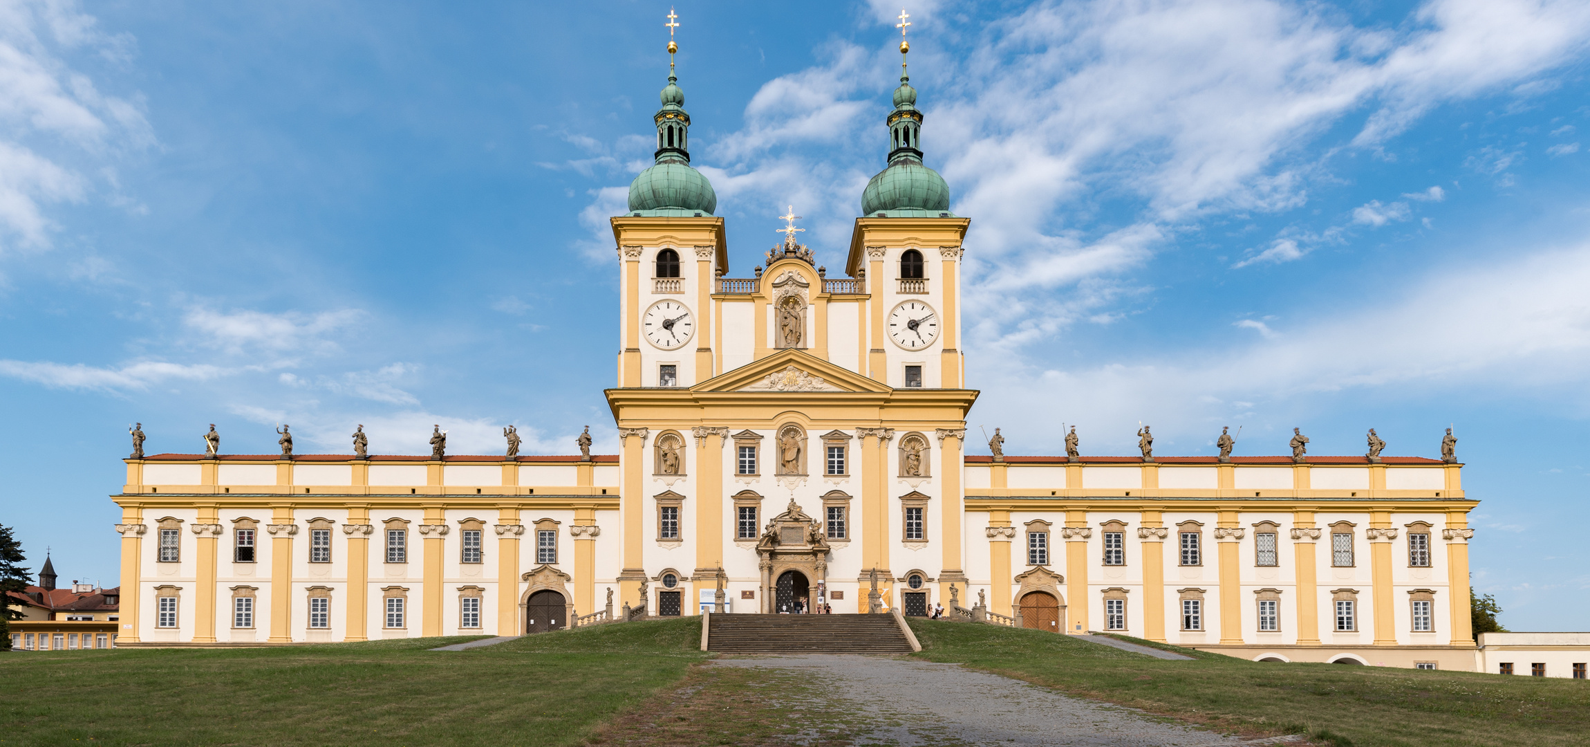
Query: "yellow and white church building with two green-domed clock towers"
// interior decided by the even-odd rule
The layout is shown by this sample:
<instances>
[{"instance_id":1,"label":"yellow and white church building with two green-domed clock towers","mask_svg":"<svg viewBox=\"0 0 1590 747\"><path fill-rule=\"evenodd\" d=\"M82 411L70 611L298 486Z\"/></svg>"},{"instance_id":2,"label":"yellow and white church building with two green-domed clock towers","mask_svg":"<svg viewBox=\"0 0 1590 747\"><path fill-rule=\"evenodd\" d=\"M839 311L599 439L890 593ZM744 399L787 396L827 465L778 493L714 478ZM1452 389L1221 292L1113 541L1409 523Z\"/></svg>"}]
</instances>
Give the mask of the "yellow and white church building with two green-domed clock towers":
<instances>
[{"instance_id":1,"label":"yellow and white church building with two green-domed clock towers","mask_svg":"<svg viewBox=\"0 0 1590 747\"><path fill-rule=\"evenodd\" d=\"M111 496L119 645L981 601L1054 633L1472 669L1455 459L965 455L970 221L922 164L916 95L902 75L846 265L830 278L792 211L735 278L669 75L655 164L612 218L622 451L140 448Z\"/></svg>"}]
</instances>

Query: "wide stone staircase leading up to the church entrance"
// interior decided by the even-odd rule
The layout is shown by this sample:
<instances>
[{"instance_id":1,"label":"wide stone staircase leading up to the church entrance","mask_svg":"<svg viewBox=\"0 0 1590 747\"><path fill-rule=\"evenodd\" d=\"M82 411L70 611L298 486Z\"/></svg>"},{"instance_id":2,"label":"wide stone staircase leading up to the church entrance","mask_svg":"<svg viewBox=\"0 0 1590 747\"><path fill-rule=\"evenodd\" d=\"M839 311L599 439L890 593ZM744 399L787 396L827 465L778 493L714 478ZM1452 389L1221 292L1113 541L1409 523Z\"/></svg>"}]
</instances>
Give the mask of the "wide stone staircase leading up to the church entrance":
<instances>
[{"instance_id":1,"label":"wide stone staircase leading up to the church entrance","mask_svg":"<svg viewBox=\"0 0 1590 747\"><path fill-rule=\"evenodd\" d=\"M711 615L706 647L722 653L911 653L894 615Z\"/></svg>"}]
</instances>

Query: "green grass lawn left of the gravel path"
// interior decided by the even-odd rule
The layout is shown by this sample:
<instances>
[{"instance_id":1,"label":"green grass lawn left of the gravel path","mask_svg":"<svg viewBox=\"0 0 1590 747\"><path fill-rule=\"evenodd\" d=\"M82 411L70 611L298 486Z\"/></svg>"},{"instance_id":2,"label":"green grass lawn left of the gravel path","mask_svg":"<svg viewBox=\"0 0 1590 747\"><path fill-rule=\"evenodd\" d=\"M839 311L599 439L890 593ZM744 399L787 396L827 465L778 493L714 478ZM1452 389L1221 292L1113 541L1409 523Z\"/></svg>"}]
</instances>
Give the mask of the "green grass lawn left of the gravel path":
<instances>
[{"instance_id":1,"label":"green grass lawn left of the gravel path","mask_svg":"<svg viewBox=\"0 0 1590 747\"><path fill-rule=\"evenodd\" d=\"M579 744L679 682L701 620L281 648L0 653L0 745Z\"/></svg>"}]
</instances>

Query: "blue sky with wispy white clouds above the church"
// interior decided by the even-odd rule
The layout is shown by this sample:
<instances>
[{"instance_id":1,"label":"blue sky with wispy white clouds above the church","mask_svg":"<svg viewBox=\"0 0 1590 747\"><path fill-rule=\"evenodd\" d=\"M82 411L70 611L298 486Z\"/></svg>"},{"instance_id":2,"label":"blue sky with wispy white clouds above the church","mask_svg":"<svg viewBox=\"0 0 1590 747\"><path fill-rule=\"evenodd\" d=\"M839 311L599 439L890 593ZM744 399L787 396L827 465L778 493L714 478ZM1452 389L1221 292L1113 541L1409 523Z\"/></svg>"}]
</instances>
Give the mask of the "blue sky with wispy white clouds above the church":
<instances>
[{"instance_id":1,"label":"blue sky with wispy white clouds above the church","mask_svg":"<svg viewBox=\"0 0 1590 747\"><path fill-rule=\"evenodd\" d=\"M911 3L1008 453L1436 456L1514 629L1590 629L1590 6ZM668 5L0 2L0 523L114 583L151 451L615 445L606 218ZM749 275L843 267L898 6L681 2L692 156Z\"/></svg>"}]
</instances>

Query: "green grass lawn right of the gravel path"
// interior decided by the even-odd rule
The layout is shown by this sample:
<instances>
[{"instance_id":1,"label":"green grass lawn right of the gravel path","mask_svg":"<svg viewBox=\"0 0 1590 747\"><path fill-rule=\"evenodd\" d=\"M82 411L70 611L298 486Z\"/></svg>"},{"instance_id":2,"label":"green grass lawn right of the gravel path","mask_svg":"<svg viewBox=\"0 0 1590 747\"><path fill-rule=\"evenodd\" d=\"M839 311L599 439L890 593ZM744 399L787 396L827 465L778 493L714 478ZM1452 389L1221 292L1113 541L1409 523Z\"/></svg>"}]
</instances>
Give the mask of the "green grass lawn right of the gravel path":
<instances>
[{"instance_id":1,"label":"green grass lawn right of the gravel path","mask_svg":"<svg viewBox=\"0 0 1590 747\"><path fill-rule=\"evenodd\" d=\"M1340 747L1590 744L1585 680L1255 663L1185 648L1197 660L1164 661L1041 631L933 620L911 628L917 656L932 661L1237 731L1307 733Z\"/></svg>"}]
</instances>

